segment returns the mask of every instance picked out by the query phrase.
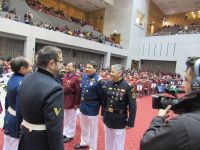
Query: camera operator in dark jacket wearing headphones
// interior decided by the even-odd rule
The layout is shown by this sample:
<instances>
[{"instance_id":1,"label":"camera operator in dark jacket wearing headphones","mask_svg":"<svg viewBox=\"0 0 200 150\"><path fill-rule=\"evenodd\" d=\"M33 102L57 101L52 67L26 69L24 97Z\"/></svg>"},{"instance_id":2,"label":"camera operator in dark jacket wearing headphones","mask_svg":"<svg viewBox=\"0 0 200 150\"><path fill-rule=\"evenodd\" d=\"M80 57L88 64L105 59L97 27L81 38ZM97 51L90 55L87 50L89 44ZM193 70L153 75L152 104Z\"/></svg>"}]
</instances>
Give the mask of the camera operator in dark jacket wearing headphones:
<instances>
[{"instance_id":1,"label":"camera operator in dark jacket wearing headphones","mask_svg":"<svg viewBox=\"0 0 200 150\"><path fill-rule=\"evenodd\" d=\"M200 58L186 62L185 93L179 103L160 109L140 141L140 150L198 150L200 148ZM170 109L181 115L166 120Z\"/></svg>"}]
</instances>

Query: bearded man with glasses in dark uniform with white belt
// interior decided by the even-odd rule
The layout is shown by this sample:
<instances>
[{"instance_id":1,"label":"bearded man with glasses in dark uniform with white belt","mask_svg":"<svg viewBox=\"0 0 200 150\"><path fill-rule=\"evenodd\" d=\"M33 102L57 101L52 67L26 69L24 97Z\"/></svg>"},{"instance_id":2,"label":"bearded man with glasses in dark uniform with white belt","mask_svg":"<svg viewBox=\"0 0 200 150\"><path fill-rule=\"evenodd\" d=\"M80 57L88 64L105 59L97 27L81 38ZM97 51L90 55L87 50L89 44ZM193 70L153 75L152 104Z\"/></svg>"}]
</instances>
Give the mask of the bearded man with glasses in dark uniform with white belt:
<instances>
[{"instance_id":1,"label":"bearded man with glasses in dark uniform with white belt","mask_svg":"<svg viewBox=\"0 0 200 150\"><path fill-rule=\"evenodd\" d=\"M38 53L37 71L23 80L19 91L23 116L19 150L64 150L64 94L54 80L62 66L62 51L45 46Z\"/></svg>"}]
</instances>

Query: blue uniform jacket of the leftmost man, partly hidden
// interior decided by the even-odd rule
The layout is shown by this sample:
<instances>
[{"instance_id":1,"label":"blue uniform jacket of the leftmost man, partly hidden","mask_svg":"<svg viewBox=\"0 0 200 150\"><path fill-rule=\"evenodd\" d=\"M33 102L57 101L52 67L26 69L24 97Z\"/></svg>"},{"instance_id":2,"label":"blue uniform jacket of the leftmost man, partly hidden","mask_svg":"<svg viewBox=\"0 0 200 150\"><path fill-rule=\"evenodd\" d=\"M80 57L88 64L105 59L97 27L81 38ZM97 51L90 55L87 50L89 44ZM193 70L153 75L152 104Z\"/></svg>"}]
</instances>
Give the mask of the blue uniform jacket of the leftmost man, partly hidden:
<instances>
[{"instance_id":1,"label":"blue uniform jacket of the leftmost man, partly hidden","mask_svg":"<svg viewBox=\"0 0 200 150\"><path fill-rule=\"evenodd\" d=\"M4 117L4 134L13 138L19 138L20 125L22 122L22 115L19 106L19 85L24 78L23 74L15 73L12 75L7 84L7 94L5 100L5 117ZM16 116L9 113L8 108L16 111Z\"/></svg>"}]
</instances>

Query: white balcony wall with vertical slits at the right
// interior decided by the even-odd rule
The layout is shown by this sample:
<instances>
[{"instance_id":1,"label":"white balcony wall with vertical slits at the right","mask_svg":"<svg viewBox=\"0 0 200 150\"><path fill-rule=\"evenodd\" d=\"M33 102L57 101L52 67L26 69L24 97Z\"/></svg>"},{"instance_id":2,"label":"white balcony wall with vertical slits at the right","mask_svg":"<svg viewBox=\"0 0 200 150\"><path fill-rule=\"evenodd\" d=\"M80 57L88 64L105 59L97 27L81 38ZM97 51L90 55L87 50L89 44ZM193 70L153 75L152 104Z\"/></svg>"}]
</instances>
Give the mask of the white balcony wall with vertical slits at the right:
<instances>
[{"instance_id":1,"label":"white balcony wall with vertical slits at the right","mask_svg":"<svg viewBox=\"0 0 200 150\"><path fill-rule=\"evenodd\" d=\"M200 34L143 37L141 41L140 59L176 61L176 72L182 75L188 57L200 57Z\"/></svg>"}]
</instances>

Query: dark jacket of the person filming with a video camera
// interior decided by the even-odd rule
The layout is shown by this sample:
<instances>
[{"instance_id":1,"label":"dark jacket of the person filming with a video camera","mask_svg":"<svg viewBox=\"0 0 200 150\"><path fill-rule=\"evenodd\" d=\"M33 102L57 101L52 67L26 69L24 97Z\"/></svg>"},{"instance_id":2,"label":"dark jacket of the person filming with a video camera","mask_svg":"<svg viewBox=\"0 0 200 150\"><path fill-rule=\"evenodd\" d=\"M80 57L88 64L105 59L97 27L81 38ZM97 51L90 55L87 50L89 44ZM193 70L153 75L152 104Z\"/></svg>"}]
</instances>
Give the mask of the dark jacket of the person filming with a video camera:
<instances>
[{"instance_id":1,"label":"dark jacket of the person filming with a video camera","mask_svg":"<svg viewBox=\"0 0 200 150\"><path fill-rule=\"evenodd\" d=\"M167 122L163 117L153 119L140 141L141 150L200 149L200 91L196 92L172 107L182 115Z\"/></svg>"}]
</instances>

